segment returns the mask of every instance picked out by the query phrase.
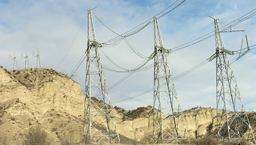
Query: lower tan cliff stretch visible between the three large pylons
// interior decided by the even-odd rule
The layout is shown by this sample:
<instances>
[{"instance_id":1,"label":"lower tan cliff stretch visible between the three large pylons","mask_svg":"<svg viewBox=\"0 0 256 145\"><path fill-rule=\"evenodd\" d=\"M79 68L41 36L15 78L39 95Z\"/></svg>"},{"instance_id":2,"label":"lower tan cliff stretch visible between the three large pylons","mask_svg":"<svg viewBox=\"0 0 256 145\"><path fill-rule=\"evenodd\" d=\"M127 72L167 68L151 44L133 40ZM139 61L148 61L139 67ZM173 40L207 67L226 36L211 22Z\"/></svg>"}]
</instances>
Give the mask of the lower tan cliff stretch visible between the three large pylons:
<instances>
[{"instance_id":1,"label":"lower tan cliff stretch visible between the three large pylons","mask_svg":"<svg viewBox=\"0 0 256 145\"><path fill-rule=\"evenodd\" d=\"M152 141L152 110L153 107L140 107L133 111L135 118L129 117L125 110L115 107L123 119L117 119L119 128L122 128L123 135L142 142ZM139 110L139 111L137 111ZM183 112L184 123L190 138L200 138L214 133L216 129L216 109L193 108ZM170 124L171 121L170 121ZM181 131L182 131L181 127Z\"/></svg>"}]
</instances>

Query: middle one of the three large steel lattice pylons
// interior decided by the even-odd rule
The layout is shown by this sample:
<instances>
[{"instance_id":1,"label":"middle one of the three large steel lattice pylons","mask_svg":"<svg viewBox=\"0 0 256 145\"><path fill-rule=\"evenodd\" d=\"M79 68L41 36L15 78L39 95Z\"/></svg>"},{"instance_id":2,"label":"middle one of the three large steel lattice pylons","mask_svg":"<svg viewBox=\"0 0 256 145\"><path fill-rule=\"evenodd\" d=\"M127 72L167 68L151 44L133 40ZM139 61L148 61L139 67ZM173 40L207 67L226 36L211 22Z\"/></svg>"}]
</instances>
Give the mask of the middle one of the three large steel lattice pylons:
<instances>
[{"instance_id":1,"label":"middle one of the three large steel lattice pylons","mask_svg":"<svg viewBox=\"0 0 256 145\"><path fill-rule=\"evenodd\" d=\"M189 142L156 16L154 34L153 143L173 144L186 140Z\"/></svg>"}]
</instances>

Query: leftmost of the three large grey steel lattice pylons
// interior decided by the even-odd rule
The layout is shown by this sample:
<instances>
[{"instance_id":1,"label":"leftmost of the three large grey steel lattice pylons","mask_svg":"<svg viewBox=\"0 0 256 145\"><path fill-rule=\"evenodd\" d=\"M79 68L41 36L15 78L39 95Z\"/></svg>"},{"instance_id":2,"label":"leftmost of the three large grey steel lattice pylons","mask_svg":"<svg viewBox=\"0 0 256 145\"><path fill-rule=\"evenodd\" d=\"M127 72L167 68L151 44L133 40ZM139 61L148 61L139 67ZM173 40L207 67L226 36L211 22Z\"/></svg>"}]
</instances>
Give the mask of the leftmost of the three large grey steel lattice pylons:
<instances>
[{"instance_id":1,"label":"leftmost of the three large grey steel lattice pylons","mask_svg":"<svg viewBox=\"0 0 256 145\"><path fill-rule=\"evenodd\" d=\"M83 142L119 142L108 87L96 41L92 11L88 9L88 41L83 122Z\"/></svg>"}]
</instances>

